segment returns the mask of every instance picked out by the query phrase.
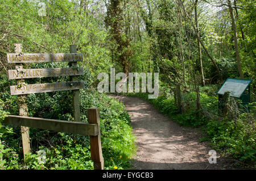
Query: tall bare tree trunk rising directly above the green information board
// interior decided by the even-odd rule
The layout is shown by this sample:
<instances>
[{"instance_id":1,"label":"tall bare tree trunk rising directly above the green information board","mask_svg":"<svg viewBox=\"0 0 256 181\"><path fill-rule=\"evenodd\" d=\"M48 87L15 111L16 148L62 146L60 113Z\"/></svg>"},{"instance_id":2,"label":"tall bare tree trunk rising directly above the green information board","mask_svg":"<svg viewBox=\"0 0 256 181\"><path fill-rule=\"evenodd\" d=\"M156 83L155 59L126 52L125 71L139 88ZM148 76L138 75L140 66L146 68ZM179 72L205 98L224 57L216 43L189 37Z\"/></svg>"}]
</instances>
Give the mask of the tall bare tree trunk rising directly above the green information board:
<instances>
[{"instance_id":1,"label":"tall bare tree trunk rising directly above the green information board","mask_svg":"<svg viewBox=\"0 0 256 181\"><path fill-rule=\"evenodd\" d=\"M228 1L228 7L229 7L229 12L230 12L230 18L232 20L232 30L234 33L234 48L236 50L236 57L237 57L237 68L239 71L240 78L243 78L243 72L242 72L242 65L241 65L241 57L239 53L239 47L238 47L238 41L237 41L237 25L236 25L236 20L234 19L234 12L233 12L233 7L231 4L230 0Z\"/></svg>"}]
</instances>

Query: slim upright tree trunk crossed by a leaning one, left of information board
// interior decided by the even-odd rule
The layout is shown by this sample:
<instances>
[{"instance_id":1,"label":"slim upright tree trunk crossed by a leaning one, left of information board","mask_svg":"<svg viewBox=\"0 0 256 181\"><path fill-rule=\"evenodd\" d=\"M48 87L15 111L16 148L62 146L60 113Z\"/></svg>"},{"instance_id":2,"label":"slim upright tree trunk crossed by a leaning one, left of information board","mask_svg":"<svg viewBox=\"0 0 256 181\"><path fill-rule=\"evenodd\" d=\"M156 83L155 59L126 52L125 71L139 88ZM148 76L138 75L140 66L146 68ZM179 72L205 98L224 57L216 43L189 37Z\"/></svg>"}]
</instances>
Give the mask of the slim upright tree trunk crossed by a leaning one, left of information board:
<instances>
[{"instance_id":1,"label":"slim upright tree trunk crossed by a leaning one, left of information board","mask_svg":"<svg viewBox=\"0 0 256 181\"><path fill-rule=\"evenodd\" d=\"M196 32L199 34L199 24L197 21L197 2L198 0L195 1L195 21L196 21ZM204 79L204 69L203 69L203 60L202 60L202 52L201 52L201 46L200 46L200 41L197 39L197 50L198 50L198 65L200 67L200 73L201 73L201 85L205 86L205 79Z\"/></svg>"}]
</instances>

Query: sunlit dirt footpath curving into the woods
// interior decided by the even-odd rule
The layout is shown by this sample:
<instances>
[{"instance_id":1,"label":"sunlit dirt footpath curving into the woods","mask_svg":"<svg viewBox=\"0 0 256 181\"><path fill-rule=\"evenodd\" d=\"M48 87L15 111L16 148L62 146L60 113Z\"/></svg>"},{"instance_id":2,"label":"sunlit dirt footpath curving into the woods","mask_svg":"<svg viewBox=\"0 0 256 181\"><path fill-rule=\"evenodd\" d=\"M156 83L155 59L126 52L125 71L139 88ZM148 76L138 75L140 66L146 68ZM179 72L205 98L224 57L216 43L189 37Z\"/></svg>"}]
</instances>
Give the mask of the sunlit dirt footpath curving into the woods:
<instances>
[{"instance_id":1,"label":"sunlit dirt footpath curving into the woods","mask_svg":"<svg viewBox=\"0 0 256 181\"><path fill-rule=\"evenodd\" d=\"M233 169L218 153L217 163L209 163L212 149L199 142L198 129L181 127L141 98L111 96L125 104L131 117L138 146L134 169Z\"/></svg>"}]
</instances>

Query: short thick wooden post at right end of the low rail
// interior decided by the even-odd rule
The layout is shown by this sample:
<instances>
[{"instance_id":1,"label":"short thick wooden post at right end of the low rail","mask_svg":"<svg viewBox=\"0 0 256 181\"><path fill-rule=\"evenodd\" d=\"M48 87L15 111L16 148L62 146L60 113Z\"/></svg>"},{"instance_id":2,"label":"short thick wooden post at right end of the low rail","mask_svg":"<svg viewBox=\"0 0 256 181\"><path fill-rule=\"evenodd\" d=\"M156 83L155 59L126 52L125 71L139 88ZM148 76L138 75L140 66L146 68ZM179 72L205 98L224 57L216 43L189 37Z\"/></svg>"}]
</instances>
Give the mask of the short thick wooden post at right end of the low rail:
<instances>
[{"instance_id":1,"label":"short thick wooden post at right end of the low rail","mask_svg":"<svg viewBox=\"0 0 256 181\"><path fill-rule=\"evenodd\" d=\"M104 158L101 150L100 113L98 108L88 109L88 122L98 124L98 135L90 136L90 153L94 170L104 170Z\"/></svg>"}]
</instances>

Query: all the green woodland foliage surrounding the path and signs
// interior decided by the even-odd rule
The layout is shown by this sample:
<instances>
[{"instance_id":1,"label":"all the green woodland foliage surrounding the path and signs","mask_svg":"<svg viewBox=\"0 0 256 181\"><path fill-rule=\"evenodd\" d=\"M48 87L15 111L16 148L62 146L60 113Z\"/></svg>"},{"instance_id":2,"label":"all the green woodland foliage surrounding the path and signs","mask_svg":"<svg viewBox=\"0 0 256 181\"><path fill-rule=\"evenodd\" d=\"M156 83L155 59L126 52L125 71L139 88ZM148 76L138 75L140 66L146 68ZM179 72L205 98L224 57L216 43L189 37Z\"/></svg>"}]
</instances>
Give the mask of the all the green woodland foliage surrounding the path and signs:
<instances>
[{"instance_id":1,"label":"all the green woodland foliage surrounding the path and signs","mask_svg":"<svg viewBox=\"0 0 256 181\"><path fill-rule=\"evenodd\" d=\"M220 146L220 149L225 149L241 161L254 161L255 132L245 131L254 128L254 122L248 124L254 118L241 116L234 120L234 116L231 116L225 120L217 116L215 93L220 87L218 84L225 78L238 76L231 20L225 6L216 2L217 6L221 6L213 10L208 3L214 1L197 3L200 39L220 69L220 74L217 74L201 46L204 77L210 85L200 87L201 108L197 110L193 89L199 82L200 53L193 30L193 26L196 26L194 2L40 2L46 4L46 16L38 15L39 1L0 0L0 100L3 101L0 106L0 123L7 111L14 115L19 111L18 96L8 93L9 86L15 85L15 80L8 80L7 70L14 69L14 66L7 64L6 54L14 53L14 43L21 43L24 53L68 53L69 45L76 44L77 52L84 54L84 61L79 62L85 72L80 79L85 81L86 87L86 90L81 91L81 119L87 121L86 110L89 107L100 108L106 168L129 167L127 159L134 151L130 120L123 105L104 94L89 91L97 87L97 75L108 73L109 68L115 68L116 73L159 72L160 96L157 99L147 99L147 94L141 93L127 95L147 99L181 125L207 128L209 136L205 139L208 138L215 146ZM233 11L237 21L242 71L245 78L255 79L255 1L234 2L237 3L233 4ZM184 9L180 3L183 3ZM239 8L235 9L236 6ZM108 12L103 14L105 9ZM67 67L67 63L24 64L23 67L59 68ZM69 78L35 78L27 79L26 83L64 81L69 81ZM183 114L177 114L173 96L176 83L180 83L184 91L181 94ZM251 83L251 95L255 95L254 90L255 81ZM72 121L72 106L67 101L71 100L71 96L71 91L30 94L27 96L28 115ZM254 115L255 96L251 96L251 99L250 115ZM92 169L88 157L88 137L31 129L33 152L28 156L26 167L22 164L19 128L0 126L0 156L3 157L3 160L0 159L0 167L4 163L5 169ZM239 132L239 129L242 131ZM39 149L46 150L47 158L52 161L47 159L46 164L38 164L36 151ZM77 158L77 154L81 158Z\"/></svg>"}]
</instances>

